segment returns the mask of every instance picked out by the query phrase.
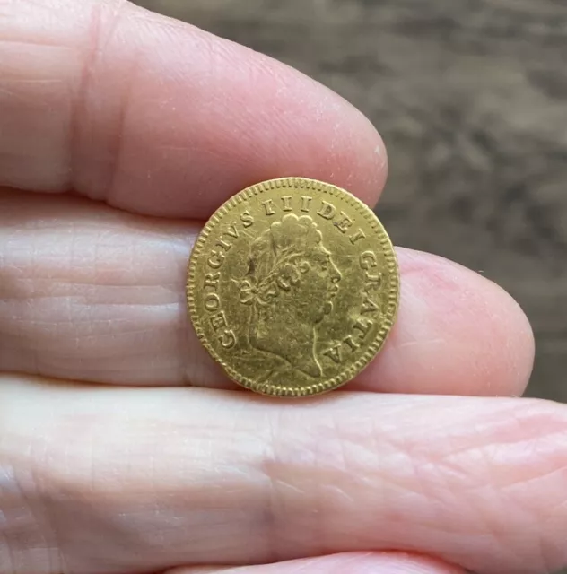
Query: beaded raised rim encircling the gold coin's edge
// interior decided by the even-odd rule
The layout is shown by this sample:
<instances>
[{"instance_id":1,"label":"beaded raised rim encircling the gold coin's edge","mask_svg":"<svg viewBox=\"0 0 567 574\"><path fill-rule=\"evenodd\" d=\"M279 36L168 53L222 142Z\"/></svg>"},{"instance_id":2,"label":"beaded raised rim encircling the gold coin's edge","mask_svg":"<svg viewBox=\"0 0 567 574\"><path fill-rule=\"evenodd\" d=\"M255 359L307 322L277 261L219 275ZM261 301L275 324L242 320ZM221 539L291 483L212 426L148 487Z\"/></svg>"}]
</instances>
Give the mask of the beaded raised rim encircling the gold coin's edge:
<instances>
[{"instance_id":1,"label":"beaded raised rim encircling the gold coin's edge","mask_svg":"<svg viewBox=\"0 0 567 574\"><path fill-rule=\"evenodd\" d=\"M313 383L305 387L285 387L282 385L275 385L271 383L258 386L250 378L243 376L237 369L231 367L222 357L214 350L214 347L209 343L205 331L201 326L201 317L196 309L195 290L196 290L196 265L199 257L203 254L205 242L208 237L214 232L215 228L222 222L222 217L243 202L253 198L254 196L262 195L266 192L275 189L290 188L293 190L301 189L302 191L318 192L327 194L327 196L341 196L348 204L351 204L358 213L371 225L371 229L377 233L379 245L384 253L385 260L388 265L389 281L388 281L388 307L384 316L380 318L380 328L378 334L375 336L368 349L361 358L349 365L345 370L341 371L334 378L325 380L324 382ZM188 311L191 322L195 328L196 335L204 345L205 349L213 357L214 361L221 365L226 374L242 387L249 388L261 395L268 396L284 396L284 397L301 397L301 396L314 396L328 391L334 390L350 382L356 375L364 370L371 360L379 353L388 334L396 322L397 309L400 296L400 275L397 265L397 257L395 255L394 247L388 236L387 231L379 222L378 217L368 207L363 204L360 199L353 196L350 192L341 187L336 187L317 179L310 178L277 178L269 179L259 182L253 186L243 189L235 196L231 196L224 204L222 204L205 223L205 227L201 230L198 238L196 239L195 247L191 253L188 264L188 282L187 282L187 302Z\"/></svg>"}]
</instances>

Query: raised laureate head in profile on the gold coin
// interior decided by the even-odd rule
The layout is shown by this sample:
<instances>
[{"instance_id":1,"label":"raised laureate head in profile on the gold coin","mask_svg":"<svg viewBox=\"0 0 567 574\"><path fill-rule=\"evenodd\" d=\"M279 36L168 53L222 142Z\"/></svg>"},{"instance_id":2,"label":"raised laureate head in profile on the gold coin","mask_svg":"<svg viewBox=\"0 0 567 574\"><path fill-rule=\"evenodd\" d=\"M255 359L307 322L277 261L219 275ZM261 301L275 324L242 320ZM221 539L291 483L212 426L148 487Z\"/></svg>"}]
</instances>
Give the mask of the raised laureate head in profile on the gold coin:
<instances>
[{"instance_id":1,"label":"raised laureate head in profile on the gold coin","mask_svg":"<svg viewBox=\"0 0 567 574\"><path fill-rule=\"evenodd\" d=\"M240 281L249 344L318 378L318 326L333 313L342 274L313 219L284 215L255 239Z\"/></svg>"}]
</instances>

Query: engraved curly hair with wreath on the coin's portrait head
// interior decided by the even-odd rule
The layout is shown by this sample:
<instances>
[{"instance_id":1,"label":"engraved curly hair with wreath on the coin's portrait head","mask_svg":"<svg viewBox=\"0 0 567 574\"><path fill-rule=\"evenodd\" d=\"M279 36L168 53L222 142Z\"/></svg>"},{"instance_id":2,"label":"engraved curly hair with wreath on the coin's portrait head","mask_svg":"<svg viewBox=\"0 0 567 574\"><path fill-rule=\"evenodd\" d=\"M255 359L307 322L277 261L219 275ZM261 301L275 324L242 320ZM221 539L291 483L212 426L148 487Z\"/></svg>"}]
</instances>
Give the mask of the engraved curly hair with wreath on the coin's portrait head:
<instances>
[{"instance_id":1,"label":"engraved curly hair with wreath on the coin's portrait head","mask_svg":"<svg viewBox=\"0 0 567 574\"><path fill-rule=\"evenodd\" d=\"M310 270L305 255L322 239L317 223L293 213L274 222L251 245L249 269L240 283L240 302L269 305L279 291L290 291L301 283L301 274Z\"/></svg>"}]
</instances>

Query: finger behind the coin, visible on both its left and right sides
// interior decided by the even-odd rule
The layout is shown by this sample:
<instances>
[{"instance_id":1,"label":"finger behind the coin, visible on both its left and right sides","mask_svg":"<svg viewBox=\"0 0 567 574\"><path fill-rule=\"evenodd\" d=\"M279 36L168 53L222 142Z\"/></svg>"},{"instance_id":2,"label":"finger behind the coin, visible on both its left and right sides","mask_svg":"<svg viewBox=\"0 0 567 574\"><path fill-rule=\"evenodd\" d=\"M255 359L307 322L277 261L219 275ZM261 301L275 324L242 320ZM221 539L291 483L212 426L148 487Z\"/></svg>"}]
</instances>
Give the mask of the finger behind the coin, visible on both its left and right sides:
<instances>
[{"instance_id":1,"label":"finger behind the coin, visible on both its left and right sides","mask_svg":"<svg viewBox=\"0 0 567 574\"><path fill-rule=\"evenodd\" d=\"M188 323L186 268L198 230L69 197L0 194L0 370L231 388ZM398 258L397 326L348 388L520 394L533 338L516 303L440 257L398 249Z\"/></svg>"}]
</instances>

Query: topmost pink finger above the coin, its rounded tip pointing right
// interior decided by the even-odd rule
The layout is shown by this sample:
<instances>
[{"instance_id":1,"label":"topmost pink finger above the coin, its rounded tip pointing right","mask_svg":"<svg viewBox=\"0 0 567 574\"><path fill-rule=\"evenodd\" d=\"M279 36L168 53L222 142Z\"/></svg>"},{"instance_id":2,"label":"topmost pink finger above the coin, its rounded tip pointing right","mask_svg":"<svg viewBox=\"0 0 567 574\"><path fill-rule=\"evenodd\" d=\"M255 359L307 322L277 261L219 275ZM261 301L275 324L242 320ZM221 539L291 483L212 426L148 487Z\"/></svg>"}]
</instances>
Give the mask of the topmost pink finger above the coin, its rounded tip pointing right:
<instances>
[{"instance_id":1,"label":"topmost pink finger above the coin, its rounded tip pointing right","mask_svg":"<svg viewBox=\"0 0 567 574\"><path fill-rule=\"evenodd\" d=\"M267 178L374 204L379 135L291 68L119 0L2 3L0 185L204 218Z\"/></svg>"}]
</instances>

